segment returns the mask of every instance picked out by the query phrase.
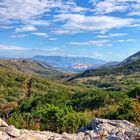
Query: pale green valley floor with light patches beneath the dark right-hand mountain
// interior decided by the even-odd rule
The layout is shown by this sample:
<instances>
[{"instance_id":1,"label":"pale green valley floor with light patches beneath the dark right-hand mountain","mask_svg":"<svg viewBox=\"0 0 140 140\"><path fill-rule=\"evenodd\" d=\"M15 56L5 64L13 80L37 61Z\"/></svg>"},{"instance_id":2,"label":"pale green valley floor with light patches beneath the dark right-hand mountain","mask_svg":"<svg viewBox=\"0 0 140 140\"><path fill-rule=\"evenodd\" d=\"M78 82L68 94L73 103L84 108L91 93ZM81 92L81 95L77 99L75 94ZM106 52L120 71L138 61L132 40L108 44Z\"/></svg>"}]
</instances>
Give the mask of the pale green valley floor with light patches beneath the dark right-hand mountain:
<instances>
[{"instance_id":1,"label":"pale green valley floor with light patches beneath the dark right-hand mountain","mask_svg":"<svg viewBox=\"0 0 140 140\"><path fill-rule=\"evenodd\" d=\"M129 75L103 75L75 79L87 87L98 87L108 91L130 91L140 85L140 72Z\"/></svg>"}]
</instances>

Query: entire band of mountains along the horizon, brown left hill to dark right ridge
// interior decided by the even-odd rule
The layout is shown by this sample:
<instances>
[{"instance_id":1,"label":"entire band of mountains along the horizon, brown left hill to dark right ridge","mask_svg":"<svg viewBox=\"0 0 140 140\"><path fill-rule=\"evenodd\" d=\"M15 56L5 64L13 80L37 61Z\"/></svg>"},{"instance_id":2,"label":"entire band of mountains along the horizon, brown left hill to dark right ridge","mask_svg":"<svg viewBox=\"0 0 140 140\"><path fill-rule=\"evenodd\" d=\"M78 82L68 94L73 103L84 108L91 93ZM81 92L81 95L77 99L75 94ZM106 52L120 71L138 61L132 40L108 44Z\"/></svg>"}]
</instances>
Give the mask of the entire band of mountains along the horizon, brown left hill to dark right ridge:
<instances>
[{"instance_id":1,"label":"entire band of mountains along the horizon, brown left hill to dark right ridge","mask_svg":"<svg viewBox=\"0 0 140 140\"><path fill-rule=\"evenodd\" d=\"M42 75L51 79L67 77L69 76L69 74L66 74L68 72L80 72L73 76L74 79L110 74L131 74L140 71L140 52L133 54L122 62L113 61L108 63L88 57L34 56L30 59L3 58L0 60L0 67L14 68L21 72Z\"/></svg>"}]
</instances>

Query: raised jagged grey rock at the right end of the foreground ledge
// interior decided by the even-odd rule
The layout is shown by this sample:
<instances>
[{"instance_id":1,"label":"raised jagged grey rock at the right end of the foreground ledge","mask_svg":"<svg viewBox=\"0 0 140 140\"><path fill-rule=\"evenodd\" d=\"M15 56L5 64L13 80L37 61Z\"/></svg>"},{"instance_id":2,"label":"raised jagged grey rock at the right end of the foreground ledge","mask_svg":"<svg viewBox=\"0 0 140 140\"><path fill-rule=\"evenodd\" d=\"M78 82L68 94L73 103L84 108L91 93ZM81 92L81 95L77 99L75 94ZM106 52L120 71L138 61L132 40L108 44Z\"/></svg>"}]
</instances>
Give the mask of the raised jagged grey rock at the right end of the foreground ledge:
<instances>
[{"instance_id":1,"label":"raised jagged grey rock at the right end of the foreground ledge","mask_svg":"<svg viewBox=\"0 0 140 140\"><path fill-rule=\"evenodd\" d=\"M134 139L134 131L136 126L126 120L108 120L108 119L99 119L94 118L91 123L86 127L93 132L99 134L100 131L103 131L108 139L123 139L127 138L129 140ZM101 135L101 134L99 134Z\"/></svg>"}]
</instances>

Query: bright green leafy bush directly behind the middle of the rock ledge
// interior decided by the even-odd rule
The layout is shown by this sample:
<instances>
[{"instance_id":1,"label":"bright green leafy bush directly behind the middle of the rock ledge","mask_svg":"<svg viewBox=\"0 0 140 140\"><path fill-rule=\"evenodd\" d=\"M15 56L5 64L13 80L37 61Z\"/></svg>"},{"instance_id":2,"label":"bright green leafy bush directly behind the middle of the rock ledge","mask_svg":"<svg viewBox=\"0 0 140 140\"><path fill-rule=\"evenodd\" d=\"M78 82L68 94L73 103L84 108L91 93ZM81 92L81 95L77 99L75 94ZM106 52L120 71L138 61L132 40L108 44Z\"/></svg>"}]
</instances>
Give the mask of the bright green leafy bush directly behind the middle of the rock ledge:
<instances>
[{"instance_id":1,"label":"bright green leafy bush directly behind the middle of the rock ledge","mask_svg":"<svg viewBox=\"0 0 140 140\"><path fill-rule=\"evenodd\" d=\"M38 118L41 122L41 130L53 132L73 133L85 124L82 114L73 111L71 107L41 105L32 113L33 118Z\"/></svg>"}]
</instances>

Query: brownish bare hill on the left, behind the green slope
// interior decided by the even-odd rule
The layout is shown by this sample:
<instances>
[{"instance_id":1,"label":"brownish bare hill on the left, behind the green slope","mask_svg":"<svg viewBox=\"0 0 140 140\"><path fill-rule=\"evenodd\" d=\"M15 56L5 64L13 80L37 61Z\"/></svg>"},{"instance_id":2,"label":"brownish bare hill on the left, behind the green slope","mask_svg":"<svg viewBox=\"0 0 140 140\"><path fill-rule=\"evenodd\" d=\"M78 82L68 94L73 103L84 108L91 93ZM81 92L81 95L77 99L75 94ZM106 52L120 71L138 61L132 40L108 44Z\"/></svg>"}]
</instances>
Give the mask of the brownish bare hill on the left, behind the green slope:
<instances>
[{"instance_id":1,"label":"brownish bare hill on the left, behind the green slope","mask_svg":"<svg viewBox=\"0 0 140 140\"><path fill-rule=\"evenodd\" d=\"M0 60L0 67L15 69L24 73L42 75L51 79L57 79L64 74L63 72L52 68L47 63L44 65L41 62L31 59L2 59Z\"/></svg>"}]
</instances>

